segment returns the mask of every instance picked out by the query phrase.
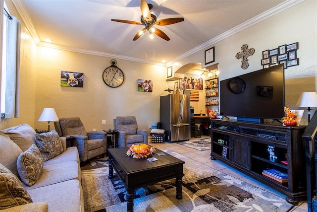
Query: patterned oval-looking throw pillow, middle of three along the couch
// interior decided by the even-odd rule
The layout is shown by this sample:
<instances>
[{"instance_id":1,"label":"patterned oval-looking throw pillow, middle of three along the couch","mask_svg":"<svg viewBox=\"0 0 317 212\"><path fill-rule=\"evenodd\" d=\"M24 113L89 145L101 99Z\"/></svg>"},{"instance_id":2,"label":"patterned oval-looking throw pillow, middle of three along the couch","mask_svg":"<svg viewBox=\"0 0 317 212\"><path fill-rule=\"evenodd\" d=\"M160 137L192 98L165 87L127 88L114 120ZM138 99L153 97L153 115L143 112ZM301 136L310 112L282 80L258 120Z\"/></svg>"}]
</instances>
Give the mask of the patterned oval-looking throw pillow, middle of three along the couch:
<instances>
[{"instance_id":1,"label":"patterned oval-looking throw pillow, middle of three along the couch","mask_svg":"<svg viewBox=\"0 0 317 212\"><path fill-rule=\"evenodd\" d=\"M35 144L19 155L16 163L23 183L27 186L33 186L36 183L42 172L43 162L40 149Z\"/></svg>"}]
</instances>

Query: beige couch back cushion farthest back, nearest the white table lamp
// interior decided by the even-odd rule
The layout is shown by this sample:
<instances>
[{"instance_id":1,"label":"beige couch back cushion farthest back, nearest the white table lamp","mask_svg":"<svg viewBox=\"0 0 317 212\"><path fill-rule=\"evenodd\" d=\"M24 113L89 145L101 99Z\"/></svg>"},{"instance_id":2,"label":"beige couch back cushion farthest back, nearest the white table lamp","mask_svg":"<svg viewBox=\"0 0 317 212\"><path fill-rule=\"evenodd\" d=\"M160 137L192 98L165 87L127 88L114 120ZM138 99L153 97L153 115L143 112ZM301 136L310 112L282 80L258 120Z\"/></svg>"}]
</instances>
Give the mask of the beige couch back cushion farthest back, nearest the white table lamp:
<instances>
[{"instance_id":1,"label":"beige couch back cushion farthest back, nearest the white table lamp","mask_svg":"<svg viewBox=\"0 0 317 212\"><path fill-rule=\"evenodd\" d=\"M32 144L35 144L35 131L28 124L21 124L10 127L1 132L10 137L22 151L26 151Z\"/></svg>"}]
</instances>

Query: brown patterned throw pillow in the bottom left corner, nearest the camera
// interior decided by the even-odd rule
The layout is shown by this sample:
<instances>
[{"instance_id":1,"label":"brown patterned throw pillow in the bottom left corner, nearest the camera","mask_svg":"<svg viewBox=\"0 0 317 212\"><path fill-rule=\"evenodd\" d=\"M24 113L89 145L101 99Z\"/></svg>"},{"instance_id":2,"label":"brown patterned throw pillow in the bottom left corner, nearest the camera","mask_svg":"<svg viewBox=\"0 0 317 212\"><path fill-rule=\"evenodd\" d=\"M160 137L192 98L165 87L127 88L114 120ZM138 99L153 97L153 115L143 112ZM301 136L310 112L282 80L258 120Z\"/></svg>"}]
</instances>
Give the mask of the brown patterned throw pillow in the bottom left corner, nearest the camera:
<instances>
[{"instance_id":1,"label":"brown patterned throw pillow in the bottom left corner, nearest the camera","mask_svg":"<svg viewBox=\"0 0 317 212\"><path fill-rule=\"evenodd\" d=\"M0 210L33 203L21 181L0 163Z\"/></svg>"}]
</instances>

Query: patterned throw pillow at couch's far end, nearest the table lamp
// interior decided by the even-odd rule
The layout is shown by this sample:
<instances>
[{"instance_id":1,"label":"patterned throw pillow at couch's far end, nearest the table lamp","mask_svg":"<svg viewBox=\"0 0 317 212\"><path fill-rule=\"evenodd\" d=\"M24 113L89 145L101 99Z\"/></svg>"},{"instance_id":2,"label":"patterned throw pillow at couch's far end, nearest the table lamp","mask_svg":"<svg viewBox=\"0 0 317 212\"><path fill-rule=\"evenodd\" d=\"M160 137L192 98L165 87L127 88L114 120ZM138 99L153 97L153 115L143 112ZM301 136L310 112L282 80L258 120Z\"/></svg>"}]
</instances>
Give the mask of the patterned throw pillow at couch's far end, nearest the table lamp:
<instances>
[{"instance_id":1,"label":"patterned throw pillow at couch's far end, nearest the table lamp","mask_svg":"<svg viewBox=\"0 0 317 212\"><path fill-rule=\"evenodd\" d=\"M35 142L44 161L48 161L63 152L61 140L54 130L49 133L35 134Z\"/></svg>"}]
</instances>

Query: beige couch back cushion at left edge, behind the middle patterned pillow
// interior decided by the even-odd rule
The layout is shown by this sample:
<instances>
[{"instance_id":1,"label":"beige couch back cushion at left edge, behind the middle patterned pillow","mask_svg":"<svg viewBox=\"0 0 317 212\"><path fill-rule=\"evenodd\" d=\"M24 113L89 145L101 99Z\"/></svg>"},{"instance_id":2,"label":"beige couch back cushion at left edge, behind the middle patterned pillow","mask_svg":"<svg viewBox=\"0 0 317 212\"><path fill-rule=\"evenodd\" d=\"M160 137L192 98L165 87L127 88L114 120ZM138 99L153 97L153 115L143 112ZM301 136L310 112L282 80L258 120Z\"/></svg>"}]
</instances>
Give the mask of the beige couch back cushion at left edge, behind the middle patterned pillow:
<instances>
[{"instance_id":1,"label":"beige couch back cushion at left edge, behind the middle patterned pillow","mask_svg":"<svg viewBox=\"0 0 317 212\"><path fill-rule=\"evenodd\" d=\"M14 175L19 176L16 161L22 150L10 138L0 132L0 163L7 167Z\"/></svg>"}]
</instances>

